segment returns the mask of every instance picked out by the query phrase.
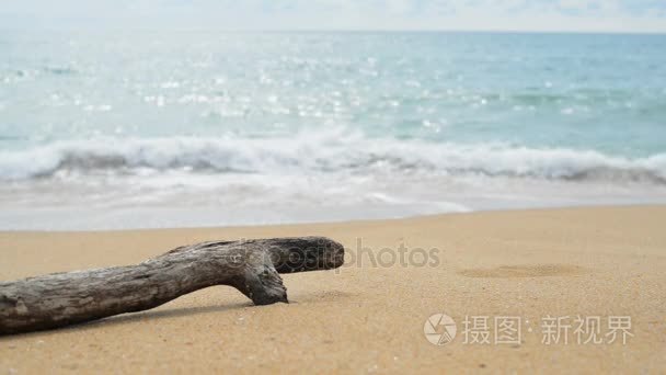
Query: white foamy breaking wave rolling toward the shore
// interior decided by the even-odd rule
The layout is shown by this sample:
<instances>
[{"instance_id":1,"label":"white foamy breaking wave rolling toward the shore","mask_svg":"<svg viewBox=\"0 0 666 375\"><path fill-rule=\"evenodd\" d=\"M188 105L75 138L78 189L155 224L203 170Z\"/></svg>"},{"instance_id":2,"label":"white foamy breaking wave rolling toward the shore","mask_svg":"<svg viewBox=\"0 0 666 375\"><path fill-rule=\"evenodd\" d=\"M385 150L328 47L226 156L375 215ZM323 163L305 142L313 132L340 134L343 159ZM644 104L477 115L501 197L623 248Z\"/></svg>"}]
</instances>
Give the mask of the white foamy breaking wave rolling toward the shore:
<instances>
[{"instance_id":1,"label":"white foamy breaking wave rolling toward the shore","mask_svg":"<svg viewBox=\"0 0 666 375\"><path fill-rule=\"evenodd\" d=\"M666 154L628 158L596 150L375 139L349 132L290 138L107 138L0 151L0 180L4 181L146 170L263 174L423 172L666 184Z\"/></svg>"}]
</instances>

